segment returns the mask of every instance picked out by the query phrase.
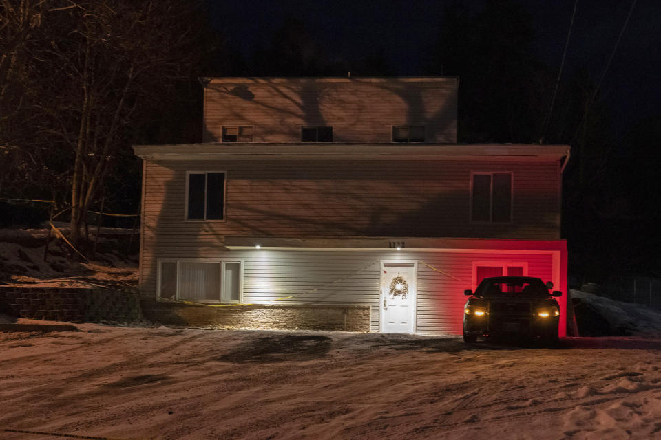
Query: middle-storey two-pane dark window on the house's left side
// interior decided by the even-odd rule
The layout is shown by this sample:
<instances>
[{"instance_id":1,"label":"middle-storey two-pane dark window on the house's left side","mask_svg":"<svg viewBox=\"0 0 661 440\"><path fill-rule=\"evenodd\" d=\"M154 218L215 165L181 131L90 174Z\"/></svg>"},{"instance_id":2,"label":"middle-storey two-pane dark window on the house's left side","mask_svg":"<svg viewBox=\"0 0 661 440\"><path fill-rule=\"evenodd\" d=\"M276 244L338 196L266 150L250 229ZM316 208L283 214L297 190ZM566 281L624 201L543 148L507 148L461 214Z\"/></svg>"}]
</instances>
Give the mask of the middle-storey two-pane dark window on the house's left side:
<instances>
[{"instance_id":1,"label":"middle-storey two-pane dark window on the house's left side","mask_svg":"<svg viewBox=\"0 0 661 440\"><path fill-rule=\"evenodd\" d=\"M186 195L187 220L224 220L225 173L187 173Z\"/></svg>"}]
</instances>

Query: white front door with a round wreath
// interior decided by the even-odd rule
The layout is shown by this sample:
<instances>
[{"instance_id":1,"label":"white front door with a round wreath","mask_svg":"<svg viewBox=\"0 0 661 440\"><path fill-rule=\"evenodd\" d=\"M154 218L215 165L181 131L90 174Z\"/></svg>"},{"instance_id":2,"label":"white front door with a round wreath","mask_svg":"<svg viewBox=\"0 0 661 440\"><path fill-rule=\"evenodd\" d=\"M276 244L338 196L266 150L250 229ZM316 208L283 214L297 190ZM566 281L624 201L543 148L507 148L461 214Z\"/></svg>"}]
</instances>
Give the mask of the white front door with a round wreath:
<instances>
[{"instance_id":1,"label":"white front door with a round wreath","mask_svg":"<svg viewBox=\"0 0 661 440\"><path fill-rule=\"evenodd\" d=\"M381 331L415 333L415 263L381 263Z\"/></svg>"}]
</instances>

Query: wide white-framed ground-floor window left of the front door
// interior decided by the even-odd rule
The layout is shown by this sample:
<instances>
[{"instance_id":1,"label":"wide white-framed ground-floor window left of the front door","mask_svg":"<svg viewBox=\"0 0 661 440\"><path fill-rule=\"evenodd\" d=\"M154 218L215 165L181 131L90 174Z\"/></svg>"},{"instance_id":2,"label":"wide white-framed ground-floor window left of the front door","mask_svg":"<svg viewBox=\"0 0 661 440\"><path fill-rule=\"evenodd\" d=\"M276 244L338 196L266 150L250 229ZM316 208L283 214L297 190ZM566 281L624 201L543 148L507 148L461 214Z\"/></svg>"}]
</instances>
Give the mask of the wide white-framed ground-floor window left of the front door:
<instances>
[{"instance_id":1,"label":"wide white-framed ground-floor window left of the front door","mask_svg":"<svg viewBox=\"0 0 661 440\"><path fill-rule=\"evenodd\" d=\"M241 303L243 261L237 259L164 259L158 265L160 298Z\"/></svg>"}]
</instances>

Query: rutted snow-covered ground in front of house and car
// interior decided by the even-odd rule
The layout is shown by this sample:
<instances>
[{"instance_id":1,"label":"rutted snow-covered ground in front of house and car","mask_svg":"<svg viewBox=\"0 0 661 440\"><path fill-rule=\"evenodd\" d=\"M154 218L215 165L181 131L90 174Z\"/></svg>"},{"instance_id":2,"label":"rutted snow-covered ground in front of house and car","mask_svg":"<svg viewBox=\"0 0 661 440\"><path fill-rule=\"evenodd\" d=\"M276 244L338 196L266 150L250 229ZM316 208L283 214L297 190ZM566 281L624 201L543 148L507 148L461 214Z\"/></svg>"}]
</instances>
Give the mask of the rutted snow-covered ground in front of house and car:
<instances>
[{"instance_id":1,"label":"rutted snow-covered ground in front of house and car","mask_svg":"<svg viewBox=\"0 0 661 440\"><path fill-rule=\"evenodd\" d=\"M0 432L116 439L661 432L658 338L577 338L547 349L379 333L78 327L0 333Z\"/></svg>"}]
</instances>

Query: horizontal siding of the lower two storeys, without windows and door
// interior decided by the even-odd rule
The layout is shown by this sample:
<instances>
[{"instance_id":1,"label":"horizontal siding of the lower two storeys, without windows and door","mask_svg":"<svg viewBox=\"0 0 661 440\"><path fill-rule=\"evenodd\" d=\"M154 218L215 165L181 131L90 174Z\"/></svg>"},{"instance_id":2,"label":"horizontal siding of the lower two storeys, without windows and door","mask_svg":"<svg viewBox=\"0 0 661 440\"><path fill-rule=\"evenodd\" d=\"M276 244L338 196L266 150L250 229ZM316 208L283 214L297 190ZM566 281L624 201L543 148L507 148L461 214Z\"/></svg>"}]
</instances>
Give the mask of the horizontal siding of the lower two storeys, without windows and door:
<instances>
[{"instance_id":1,"label":"horizontal siding of the lower two storeys, without windows and door","mask_svg":"<svg viewBox=\"0 0 661 440\"><path fill-rule=\"evenodd\" d=\"M369 304L371 328L378 331L379 261L417 259L462 281L418 265L417 333L460 333L463 290L472 287L473 261L525 261L530 276L549 281L551 256L496 257L487 250L452 256L406 248L397 256L394 248L383 252L228 251L224 236L560 238L559 164L494 161L484 166L484 162L462 160L384 160L378 166L367 160L330 159L147 162L140 291L155 295L173 285L165 277L158 290L157 261L244 259L241 302ZM224 169L231 175L226 221L182 221L187 172L209 169ZM476 169L494 173L516 169L512 182L516 225L468 221L466 182ZM227 276L224 279L229 283Z\"/></svg>"}]
</instances>

